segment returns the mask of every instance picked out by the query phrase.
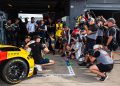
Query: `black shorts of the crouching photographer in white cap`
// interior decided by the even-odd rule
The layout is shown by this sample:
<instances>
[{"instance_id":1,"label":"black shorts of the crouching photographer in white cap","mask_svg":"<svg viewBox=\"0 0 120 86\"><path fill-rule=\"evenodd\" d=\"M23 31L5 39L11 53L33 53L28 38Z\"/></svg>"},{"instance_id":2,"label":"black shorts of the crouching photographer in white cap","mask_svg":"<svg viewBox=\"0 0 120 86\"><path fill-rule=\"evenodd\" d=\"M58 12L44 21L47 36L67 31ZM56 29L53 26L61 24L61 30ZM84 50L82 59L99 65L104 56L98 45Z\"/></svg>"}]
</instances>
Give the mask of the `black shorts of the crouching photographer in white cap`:
<instances>
[{"instance_id":1,"label":"black shorts of the crouching photographer in white cap","mask_svg":"<svg viewBox=\"0 0 120 86\"><path fill-rule=\"evenodd\" d=\"M101 72L110 72L113 69L113 64L97 64L96 66Z\"/></svg>"}]
</instances>

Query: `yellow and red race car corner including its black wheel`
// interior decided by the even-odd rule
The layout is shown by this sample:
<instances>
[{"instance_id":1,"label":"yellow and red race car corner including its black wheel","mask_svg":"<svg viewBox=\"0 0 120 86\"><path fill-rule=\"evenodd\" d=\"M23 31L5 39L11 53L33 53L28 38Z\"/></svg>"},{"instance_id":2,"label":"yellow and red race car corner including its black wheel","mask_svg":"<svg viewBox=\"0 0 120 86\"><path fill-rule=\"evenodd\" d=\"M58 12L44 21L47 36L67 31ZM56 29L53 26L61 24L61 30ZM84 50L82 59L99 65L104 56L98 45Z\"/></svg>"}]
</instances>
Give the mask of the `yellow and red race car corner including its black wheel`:
<instances>
[{"instance_id":1,"label":"yellow and red race car corner including its black wheel","mask_svg":"<svg viewBox=\"0 0 120 86\"><path fill-rule=\"evenodd\" d=\"M34 73L34 60L22 48L0 45L0 77L10 84L17 84Z\"/></svg>"}]
</instances>

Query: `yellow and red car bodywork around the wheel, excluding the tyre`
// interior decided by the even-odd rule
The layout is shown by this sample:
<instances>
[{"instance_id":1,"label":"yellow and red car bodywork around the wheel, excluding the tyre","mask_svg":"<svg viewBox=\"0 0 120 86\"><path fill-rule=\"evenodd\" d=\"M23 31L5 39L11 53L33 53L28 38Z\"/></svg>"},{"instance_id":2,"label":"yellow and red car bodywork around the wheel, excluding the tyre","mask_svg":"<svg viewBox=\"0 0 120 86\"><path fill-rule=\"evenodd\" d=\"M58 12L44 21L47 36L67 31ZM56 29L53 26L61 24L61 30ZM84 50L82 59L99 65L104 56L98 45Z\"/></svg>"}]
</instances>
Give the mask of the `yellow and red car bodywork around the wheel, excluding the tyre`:
<instances>
[{"instance_id":1,"label":"yellow and red car bodywork around the wheel, excluding the tyre","mask_svg":"<svg viewBox=\"0 0 120 86\"><path fill-rule=\"evenodd\" d=\"M27 63L29 68L27 77L31 77L34 71L34 60L30 53L15 46L0 45L0 66L2 66L1 63L16 58L22 59Z\"/></svg>"}]
</instances>

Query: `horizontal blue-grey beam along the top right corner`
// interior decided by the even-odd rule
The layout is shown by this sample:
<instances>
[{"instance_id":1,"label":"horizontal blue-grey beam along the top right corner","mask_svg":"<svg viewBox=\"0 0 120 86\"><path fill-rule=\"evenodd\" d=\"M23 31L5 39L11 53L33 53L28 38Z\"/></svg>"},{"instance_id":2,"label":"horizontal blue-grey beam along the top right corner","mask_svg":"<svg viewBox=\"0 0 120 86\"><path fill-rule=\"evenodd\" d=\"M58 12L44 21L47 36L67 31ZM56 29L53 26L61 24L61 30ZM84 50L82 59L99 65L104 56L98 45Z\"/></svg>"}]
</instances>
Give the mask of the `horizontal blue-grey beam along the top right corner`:
<instances>
[{"instance_id":1,"label":"horizontal blue-grey beam along the top right corner","mask_svg":"<svg viewBox=\"0 0 120 86\"><path fill-rule=\"evenodd\" d=\"M120 10L120 0L87 0L87 9Z\"/></svg>"}]
</instances>

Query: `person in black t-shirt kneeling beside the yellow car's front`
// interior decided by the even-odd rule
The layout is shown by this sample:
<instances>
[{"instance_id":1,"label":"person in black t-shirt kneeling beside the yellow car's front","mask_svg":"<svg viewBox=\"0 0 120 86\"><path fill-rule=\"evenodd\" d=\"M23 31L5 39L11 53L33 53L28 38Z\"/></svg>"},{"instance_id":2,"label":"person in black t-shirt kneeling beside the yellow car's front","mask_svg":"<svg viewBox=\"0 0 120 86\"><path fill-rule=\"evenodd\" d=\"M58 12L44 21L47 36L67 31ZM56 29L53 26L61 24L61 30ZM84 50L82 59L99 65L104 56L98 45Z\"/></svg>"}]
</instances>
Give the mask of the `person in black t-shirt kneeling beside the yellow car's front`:
<instances>
[{"instance_id":1,"label":"person in black t-shirt kneeling beside the yellow car's front","mask_svg":"<svg viewBox=\"0 0 120 86\"><path fill-rule=\"evenodd\" d=\"M35 64L43 66L53 65L55 61L49 60L42 57L42 50L45 53L48 53L48 48L40 43L40 36L35 37L35 43L30 45L26 45L27 48L31 48L32 57L34 59Z\"/></svg>"}]
</instances>

